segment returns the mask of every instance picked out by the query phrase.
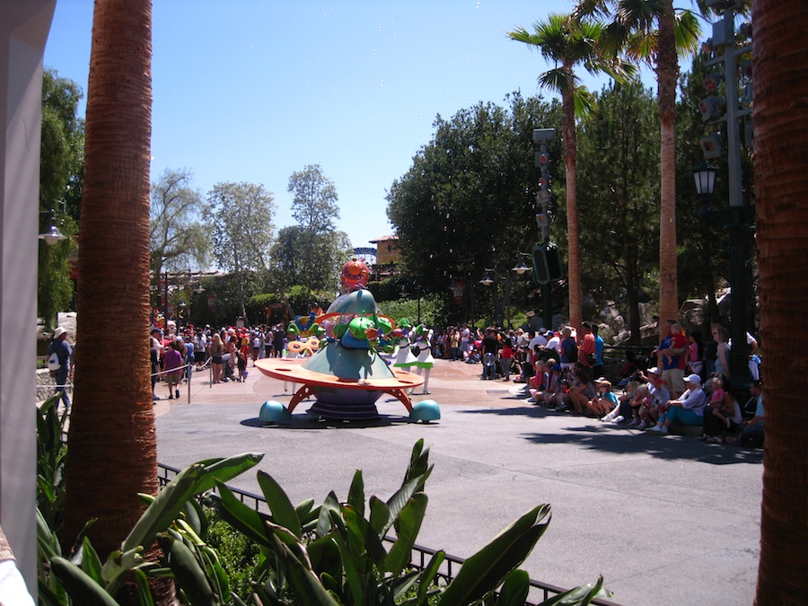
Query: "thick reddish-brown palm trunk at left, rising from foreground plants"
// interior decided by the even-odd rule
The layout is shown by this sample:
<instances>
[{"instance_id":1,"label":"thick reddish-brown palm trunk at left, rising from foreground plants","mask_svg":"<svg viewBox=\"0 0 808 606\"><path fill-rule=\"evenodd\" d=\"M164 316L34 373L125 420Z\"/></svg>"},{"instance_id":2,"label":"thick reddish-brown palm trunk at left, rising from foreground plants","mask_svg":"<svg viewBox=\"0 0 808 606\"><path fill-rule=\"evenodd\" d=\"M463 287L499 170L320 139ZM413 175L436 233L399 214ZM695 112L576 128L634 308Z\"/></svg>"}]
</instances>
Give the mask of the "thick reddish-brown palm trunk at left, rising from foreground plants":
<instances>
[{"instance_id":1,"label":"thick reddish-brown palm trunk at left, rising from foreground plants","mask_svg":"<svg viewBox=\"0 0 808 606\"><path fill-rule=\"evenodd\" d=\"M149 380L151 0L96 0L79 231L63 543L106 558L156 494Z\"/></svg>"}]
</instances>

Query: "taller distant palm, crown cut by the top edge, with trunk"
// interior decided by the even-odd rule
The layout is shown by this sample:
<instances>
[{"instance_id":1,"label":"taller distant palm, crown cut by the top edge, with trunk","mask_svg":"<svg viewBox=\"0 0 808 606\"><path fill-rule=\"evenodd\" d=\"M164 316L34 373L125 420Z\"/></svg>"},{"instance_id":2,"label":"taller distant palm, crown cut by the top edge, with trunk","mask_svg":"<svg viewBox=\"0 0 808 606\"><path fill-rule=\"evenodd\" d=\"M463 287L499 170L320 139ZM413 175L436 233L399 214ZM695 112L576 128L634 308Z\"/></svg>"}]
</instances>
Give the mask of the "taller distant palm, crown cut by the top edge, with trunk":
<instances>
[{"instance_id":1,"label":"taller distant palm, crown cut by the top edge, with trunk","mask_svg":"<svg viewBox=\"0 0 808 606\"><path fill-rule=\"evenodd\" d=\"M610 8L613 9L610 13ZM602 43L654 68L660 119L659 316L679 316L676 262L676 85L679 53L698 48L700 30L690 11L672 0L581 0L575 15L610 16Z\"/></svg>"}]
</instances>

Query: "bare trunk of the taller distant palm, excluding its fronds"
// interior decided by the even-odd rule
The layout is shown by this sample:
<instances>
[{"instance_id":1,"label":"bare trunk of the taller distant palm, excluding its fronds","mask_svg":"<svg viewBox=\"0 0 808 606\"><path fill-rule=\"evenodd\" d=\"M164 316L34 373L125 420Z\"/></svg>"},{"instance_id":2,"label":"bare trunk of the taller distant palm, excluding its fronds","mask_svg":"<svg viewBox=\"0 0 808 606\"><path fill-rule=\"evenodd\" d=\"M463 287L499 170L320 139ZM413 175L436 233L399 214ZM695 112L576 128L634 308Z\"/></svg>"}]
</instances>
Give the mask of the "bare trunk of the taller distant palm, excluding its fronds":
<instances>
[{"instance_id":1,"label":"bare trunk of the taller distant palm, excluding its fronds","mask_svg":"<svg viewBox=\"0 0 808 606\"><path fill-rule=\"evenodd\" d=\"M679 285L676 263L676 83L679 62L673 31L672 0L665 0L659 17L659 53L656 75L660 119L660 220L659 220L659 317L679 318ZM660 337L662 338L662 336Z\"/></svg>"}]
</instances>

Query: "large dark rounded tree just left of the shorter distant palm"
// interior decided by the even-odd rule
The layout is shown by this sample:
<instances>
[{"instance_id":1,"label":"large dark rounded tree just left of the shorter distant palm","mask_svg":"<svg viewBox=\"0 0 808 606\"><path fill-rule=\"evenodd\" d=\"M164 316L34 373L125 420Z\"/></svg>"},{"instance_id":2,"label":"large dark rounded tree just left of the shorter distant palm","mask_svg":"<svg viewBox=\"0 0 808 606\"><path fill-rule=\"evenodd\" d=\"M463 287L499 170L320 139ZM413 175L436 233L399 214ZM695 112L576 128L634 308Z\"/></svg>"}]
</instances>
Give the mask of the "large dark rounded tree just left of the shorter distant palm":
<instances>
[{"instance_id":1,"label":"large dark rounded tree just left of the shorter distant palm","mask_svg":"<svg viewBox=\"0 0 808 606\"><path fill-rule=\"evenodd\" d=\"M448 300L461 268L472 268L471 288L486 268L513 268L538 238L532 132L558 124L558 105L518 93L506 101L438 116L432 140L391 185L387 215L423 294Z\"/></svg>"}]
</instances>

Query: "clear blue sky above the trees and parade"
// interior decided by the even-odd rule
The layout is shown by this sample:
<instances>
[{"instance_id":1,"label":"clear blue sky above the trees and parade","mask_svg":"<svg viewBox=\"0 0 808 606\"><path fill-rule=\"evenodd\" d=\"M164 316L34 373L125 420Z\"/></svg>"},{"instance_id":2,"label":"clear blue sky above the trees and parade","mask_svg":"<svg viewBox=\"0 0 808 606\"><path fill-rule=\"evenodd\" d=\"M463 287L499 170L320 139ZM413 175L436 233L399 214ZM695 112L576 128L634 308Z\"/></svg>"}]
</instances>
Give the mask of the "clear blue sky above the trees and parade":
<instances>
[{"instance_id":1,"label":"clear blue sky above the trees and parade","mask_svg":"<svg viewBox=\"0 0 808 606\"><path fill-rule=\"evenodd\" d=\"M436 115L540 92L549 66L505 31L571 7L154 0L152 180L184 167L203 194L220 181L262 183L277 229L294 224L290 175L320 164L338 191L338 228L367 246L392 233L386 190L429 142ZM45 65L85 93L91 30L92 0L57 0Z\"/></svg>"}]
</instances>

